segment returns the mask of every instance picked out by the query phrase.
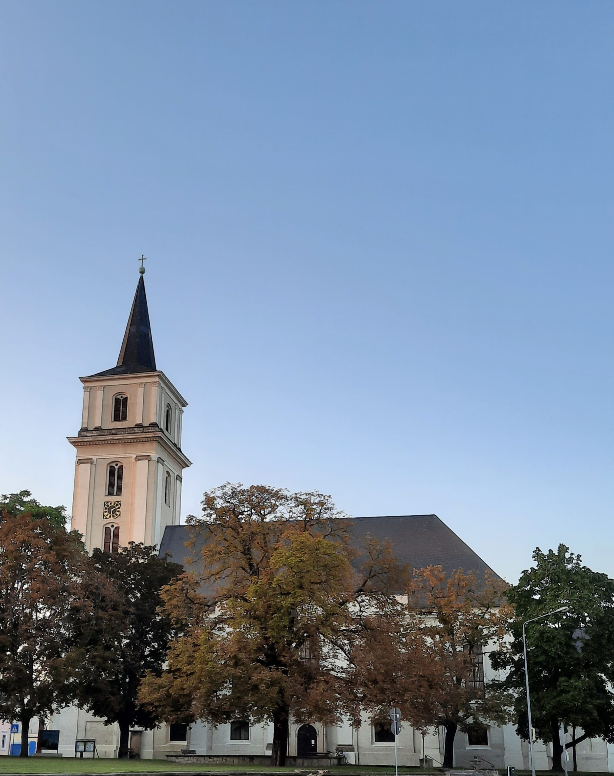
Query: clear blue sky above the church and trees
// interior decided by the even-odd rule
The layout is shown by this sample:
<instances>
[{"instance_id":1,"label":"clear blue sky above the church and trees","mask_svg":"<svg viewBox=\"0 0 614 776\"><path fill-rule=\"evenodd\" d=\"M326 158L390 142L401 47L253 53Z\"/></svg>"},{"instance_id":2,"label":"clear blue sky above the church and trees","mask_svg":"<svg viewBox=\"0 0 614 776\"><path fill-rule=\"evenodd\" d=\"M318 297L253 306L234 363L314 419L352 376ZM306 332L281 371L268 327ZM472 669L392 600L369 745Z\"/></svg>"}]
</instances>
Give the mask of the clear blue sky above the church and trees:
<instances>
[{"instance_id":1,"label":"clear blue sky above the church and trees","mask_svg":"<svg viewBox=\"0 0 614 776\"><path fill-rule=\"evenodd\" d=\"M0 492L70 508L137 257L226 480L612 560L611 2L0 6Z\"/></svg>"}]
</instances>

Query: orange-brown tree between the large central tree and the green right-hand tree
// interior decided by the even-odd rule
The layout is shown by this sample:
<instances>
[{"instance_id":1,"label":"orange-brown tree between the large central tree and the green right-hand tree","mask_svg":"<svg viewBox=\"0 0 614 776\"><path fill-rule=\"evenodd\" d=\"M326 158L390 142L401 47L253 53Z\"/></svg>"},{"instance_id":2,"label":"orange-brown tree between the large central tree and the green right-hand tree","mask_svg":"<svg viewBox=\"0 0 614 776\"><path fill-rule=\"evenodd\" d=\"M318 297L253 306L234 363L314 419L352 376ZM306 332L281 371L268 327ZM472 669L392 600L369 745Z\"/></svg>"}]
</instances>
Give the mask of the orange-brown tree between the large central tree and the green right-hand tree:
<instances>
[{"instance_id":1,"label":"orange-brown tree between the large central tree and the green right-hand tree","mask_svg":"<svg viewBox=\"0 0 614 776\"><path fill-rule=\"evenodd\" d=\"M453 767L454 737L460 728L502 723L508 701L502 688L485 684L483 659L487 646L502 649L511 610L503 600L505 585L486 575L441 566L415 570L409 580L409 629L406 656L410 667L422 668L419 682L402 681L407 719L418 729L443 726L443 767ZM411 677L409 671L404 672ZM416 695L416 688L418 694ZM403 707L403 702L400 704Z\"/></svg>"}]
</instances>

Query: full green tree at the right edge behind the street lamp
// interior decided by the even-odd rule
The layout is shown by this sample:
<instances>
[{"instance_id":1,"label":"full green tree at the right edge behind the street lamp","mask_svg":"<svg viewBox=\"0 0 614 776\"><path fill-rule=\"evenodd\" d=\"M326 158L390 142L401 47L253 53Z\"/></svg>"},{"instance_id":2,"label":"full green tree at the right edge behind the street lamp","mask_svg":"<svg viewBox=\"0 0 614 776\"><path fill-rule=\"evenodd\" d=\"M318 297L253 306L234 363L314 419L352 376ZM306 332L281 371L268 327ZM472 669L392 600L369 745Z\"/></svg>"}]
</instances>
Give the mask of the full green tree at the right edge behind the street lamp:
<instances>
[{"instance_id":1,"label":"full green tree at the right edge behind the street lamp","mask_svg":"<svg viewBox=\"0 0 614 776\"><path fill-rule=\"evenodd\" d=\"M564 544L556 552L536 548L533 561L507 592L516 609L513 641L494 663L509 672L502 684L516 694L517 730L528 739L523 622L569 607L526 627L533 727L552 743L552 768L561 771L561 722L574 731L566 747L595 736L614 742L614 580L582 566Z\"/></svg>"}]
</instances>

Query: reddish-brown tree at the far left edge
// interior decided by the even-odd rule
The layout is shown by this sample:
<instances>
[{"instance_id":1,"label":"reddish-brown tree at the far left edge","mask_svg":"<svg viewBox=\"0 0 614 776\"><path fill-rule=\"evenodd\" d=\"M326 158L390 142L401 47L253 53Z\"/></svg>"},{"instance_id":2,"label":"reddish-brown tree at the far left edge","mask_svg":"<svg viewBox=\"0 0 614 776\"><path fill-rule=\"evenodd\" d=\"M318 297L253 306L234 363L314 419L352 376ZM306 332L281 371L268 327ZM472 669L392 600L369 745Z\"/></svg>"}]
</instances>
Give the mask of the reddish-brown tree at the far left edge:
<instances>
[{"instance_id":1,"label":"reddish-brown tree at the far left edge","mask_svg":"<svg viewBox=\"0 0 614 776\"><path fill-rule=\"evenodd\" d=\"M28 491L18 494L29 496ZM45 509L45 508L43 508ZM47 517L43 515L42 517ZM14 508L0 518L0 719L28 730L70 697L67 643L85 552L78 535Z\"/></svg>"}]
</instances>

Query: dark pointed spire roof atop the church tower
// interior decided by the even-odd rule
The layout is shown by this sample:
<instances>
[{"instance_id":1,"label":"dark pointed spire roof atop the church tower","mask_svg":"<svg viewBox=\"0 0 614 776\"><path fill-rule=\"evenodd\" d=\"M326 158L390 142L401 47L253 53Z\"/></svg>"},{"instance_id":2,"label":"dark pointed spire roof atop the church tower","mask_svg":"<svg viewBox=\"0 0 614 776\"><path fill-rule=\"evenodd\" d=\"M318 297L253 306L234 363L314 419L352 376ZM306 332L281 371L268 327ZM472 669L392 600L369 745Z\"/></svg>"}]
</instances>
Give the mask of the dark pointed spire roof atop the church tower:
<instances>
[{"instance_id":1,"label":"dark pointed spire roof atop the church tower","mask_svg":"<svg viewBox=\"0 0 614 776\"><path fill-rule=\"evenodd\" d=\"M141 275L136 286L133 306L130 310L117 365L104 372L96 372L91 377L136 375L140 372L156 371L156 356L154 355L154 340L151 336L149 310L147 309L145 281Z\"/></svg>"}]
</instances>

